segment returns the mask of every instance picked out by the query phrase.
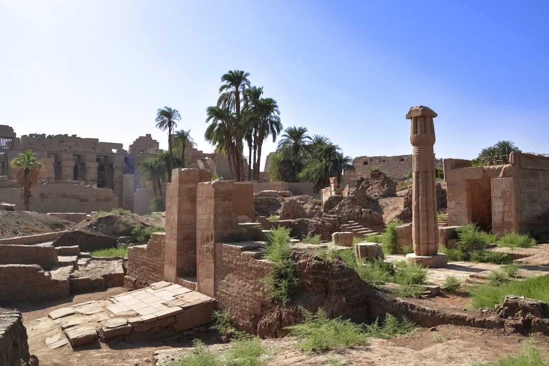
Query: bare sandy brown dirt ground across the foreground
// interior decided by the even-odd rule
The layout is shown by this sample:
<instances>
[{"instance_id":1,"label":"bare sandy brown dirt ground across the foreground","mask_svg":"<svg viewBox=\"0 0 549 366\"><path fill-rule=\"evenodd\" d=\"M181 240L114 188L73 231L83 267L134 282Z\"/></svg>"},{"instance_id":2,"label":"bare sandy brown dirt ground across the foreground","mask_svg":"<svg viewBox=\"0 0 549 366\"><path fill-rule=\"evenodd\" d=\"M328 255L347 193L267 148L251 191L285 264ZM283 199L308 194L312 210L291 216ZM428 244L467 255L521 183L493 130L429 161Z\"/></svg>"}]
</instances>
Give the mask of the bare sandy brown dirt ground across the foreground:
<instances>
[{"instance_id":1,"label":"bare sandy brown dirt ground across the foreground","mask_svg":"<svg viewBox=\"0 0 549 366\"><path fill-rule=\"evenodd\" d=\"M108 342L72 348L64 345L51 348L55 339L48 337L53 329L44 329L41 318L54 309L92 300L105 300L124 292L122 288L89 294L77 294L67 299L44 302L40 305L9 303L4 307L18 308L23 313L23 322L29 336L30 352L36 354L41 366L143 366L153 365L153 353L169 361L180 347L191 347L191 340L181 335L149 334L147 339L122 336ZM439 296L425 301L442 302L449 306L466 306L467 299L457 295ZM58 333L58 330L55 330ZM53 333L52 333L53 334ZM549 351L549 339L542 335L530 337L543 350ZM206 344L215 344L213 333L202 339ZM371 339L367 346L343 352L321 355L306 355L296 351L291 338L265 340L272 355L268 365L325 365L334 358L346 365L469 365L470 361L496 361L506 353L518 352L526 337L502 330L486 330L466 326L440 325L436 329L419 329L412 335L399 336L393 340ZM214 345L214 347L223 345Z\"/></svg>"}]
</instances>

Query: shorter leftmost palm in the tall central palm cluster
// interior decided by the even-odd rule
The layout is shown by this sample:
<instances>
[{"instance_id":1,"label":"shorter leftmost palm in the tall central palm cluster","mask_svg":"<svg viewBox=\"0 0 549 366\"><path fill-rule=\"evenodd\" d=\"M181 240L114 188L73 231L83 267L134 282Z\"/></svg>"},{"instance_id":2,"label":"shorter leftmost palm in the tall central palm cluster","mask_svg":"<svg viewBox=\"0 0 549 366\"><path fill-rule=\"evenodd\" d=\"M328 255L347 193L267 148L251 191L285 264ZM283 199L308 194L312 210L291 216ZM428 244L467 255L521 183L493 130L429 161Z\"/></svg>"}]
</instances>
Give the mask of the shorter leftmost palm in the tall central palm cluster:
<instances>
[{"instance_id":1,"label":"shorter leftmost palm in the tall central palm cluster","mask_svg":"<svg viewBox=\"0 0 549 366\"><path fill-rule=\"evenodd\" d=\"M229 161L229 171L231 178L236 177L237 156L234 153L236 150L236 142L234 142L234 125L236 116L228 108L220 106L209 106L206 108L206 123L210 125L206 128L204 138L206 141L216 145L216 150L224 151L227 154Z\"/></svg>"}]
</instances>

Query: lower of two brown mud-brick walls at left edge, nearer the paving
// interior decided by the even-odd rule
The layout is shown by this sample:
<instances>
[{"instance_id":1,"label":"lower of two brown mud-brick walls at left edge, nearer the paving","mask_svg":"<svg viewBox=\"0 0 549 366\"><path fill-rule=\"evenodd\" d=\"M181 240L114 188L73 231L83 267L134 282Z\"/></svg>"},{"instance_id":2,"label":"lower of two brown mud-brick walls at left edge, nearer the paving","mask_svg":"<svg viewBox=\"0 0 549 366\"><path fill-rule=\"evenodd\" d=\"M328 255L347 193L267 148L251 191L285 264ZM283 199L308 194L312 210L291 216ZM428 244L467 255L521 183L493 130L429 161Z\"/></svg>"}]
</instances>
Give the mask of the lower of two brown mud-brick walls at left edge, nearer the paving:
<instances>
[{"instance_id":1,"label":"lower of two brown mud-brick walls at left edge, nearer the paving","mask_svg":"<svg viewBox=\"0 0 549 366\"><path fill-rule=\"evenodd\" d=\"M69 295L69 279L52 279L37 264L0 264L0 301L42 301Z\"/></svg>"}]
</instances>

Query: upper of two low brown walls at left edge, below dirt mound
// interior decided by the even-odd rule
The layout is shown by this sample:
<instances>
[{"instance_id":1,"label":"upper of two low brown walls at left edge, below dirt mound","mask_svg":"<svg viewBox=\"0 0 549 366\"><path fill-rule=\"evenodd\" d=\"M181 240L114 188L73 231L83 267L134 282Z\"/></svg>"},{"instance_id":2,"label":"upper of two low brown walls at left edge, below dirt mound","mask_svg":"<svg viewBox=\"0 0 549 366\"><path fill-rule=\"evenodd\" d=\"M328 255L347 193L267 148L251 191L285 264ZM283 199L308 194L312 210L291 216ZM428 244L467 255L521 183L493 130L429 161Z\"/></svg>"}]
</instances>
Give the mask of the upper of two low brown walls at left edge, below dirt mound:
<instances>
[{"instance_id":1,"label":"upper of two low brown walls at left edge, below dirt mound","mask_svg":"<svg viewBox=\"0 0 549 366\"><path fill-rule=\"evenodd\" d=\"M49 244L0 245L0 264L38 264L49 271L57 264L57 252Z\"/></svg>"}]
</instances>

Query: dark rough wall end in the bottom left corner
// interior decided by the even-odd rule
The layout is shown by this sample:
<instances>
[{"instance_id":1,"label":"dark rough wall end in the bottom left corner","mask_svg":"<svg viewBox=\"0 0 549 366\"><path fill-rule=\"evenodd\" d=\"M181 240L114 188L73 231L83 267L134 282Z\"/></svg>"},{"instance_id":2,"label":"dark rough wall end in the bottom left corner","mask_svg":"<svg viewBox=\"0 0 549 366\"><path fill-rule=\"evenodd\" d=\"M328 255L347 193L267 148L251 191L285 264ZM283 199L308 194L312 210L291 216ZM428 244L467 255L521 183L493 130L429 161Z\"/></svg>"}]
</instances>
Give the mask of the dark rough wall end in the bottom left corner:
<instances>
[{"instance_id":1,"label":"dark rough wall end in the bottom left corner","mask_svg":"<svg viewBox=\"0 0 549 366\"><path fill-rule=\"evenodd\" d=\"M23 317L16 310L0 308L0 365L20 366L29 362L29 344Z\"/></svg>"}]
</instances>

